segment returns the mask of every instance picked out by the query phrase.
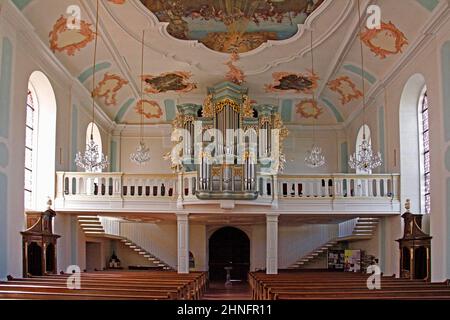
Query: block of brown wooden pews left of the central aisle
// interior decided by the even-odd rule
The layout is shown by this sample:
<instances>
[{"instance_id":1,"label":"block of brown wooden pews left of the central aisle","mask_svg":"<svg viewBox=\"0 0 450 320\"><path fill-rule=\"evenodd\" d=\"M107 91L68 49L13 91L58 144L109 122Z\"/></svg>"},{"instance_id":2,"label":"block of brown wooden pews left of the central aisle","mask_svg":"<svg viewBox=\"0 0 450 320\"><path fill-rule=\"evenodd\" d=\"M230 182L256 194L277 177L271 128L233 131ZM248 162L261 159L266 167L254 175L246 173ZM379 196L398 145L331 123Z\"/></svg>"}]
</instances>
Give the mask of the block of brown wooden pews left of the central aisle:
<instances>
[{"instance_id":1,"label":"block of brown wooden pews left of the central aisle","mask_svg":"<svg viewBox=\"0 0 450 320\"><path fill-rule=\"evenodd\" d=\"M0 282L2 299L160 300L198 299L207 285L206 273L94 272L80 274L81 288L67 288L69 274Z\"/></svg>"}]
</instances>

